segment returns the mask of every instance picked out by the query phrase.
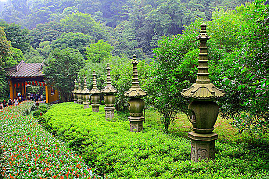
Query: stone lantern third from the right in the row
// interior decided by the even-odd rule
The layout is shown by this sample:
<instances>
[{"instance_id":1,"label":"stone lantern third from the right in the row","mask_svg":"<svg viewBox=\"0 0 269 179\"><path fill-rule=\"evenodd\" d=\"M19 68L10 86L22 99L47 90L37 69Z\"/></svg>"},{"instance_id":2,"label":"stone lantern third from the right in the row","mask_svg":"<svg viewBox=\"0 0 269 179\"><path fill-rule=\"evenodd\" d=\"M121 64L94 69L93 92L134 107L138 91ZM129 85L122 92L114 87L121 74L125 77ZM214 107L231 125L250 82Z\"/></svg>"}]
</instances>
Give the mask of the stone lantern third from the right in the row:
<instances>
[{"instance_id":1,"label":"stone lantern third from the right in the row","mask_svg":"<svg viewBox=\"0 0 269 179\"><path fill-rule=\"evenodd\" d=\"M107 119L113 119L114 118L114 102L115 102L115 95L114 93L117 93L117 89L115 89L111 85L111 77L110 77L110 70L111 68L109 67L109 63L107 66L107 85L105 86L104 89L101 89L101 93L104 93L105 96L105 111L106 111L106 118Z\"/></svg>"}]
</instances>

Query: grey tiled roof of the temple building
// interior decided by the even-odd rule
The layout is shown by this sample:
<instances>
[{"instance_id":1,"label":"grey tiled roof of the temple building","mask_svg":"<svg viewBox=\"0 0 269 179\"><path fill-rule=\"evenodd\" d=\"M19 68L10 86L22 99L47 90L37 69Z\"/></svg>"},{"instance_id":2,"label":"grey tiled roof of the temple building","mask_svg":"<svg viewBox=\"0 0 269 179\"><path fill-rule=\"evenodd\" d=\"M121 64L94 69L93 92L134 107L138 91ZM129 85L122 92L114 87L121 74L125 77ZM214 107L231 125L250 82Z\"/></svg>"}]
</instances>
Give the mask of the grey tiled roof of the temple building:
<instances>
[{"instance_id":1,"label":"grey tiled roof of the temple building","mask_svg":"<svg viewBox=\"0 0 269 179\"><path fill-rule=\"evenodd\" d=\"M11 68L6 68L5 71L7 77L40 77L44 76L42 63L25 63L24 60Z\"/></svg>"}]
</instances>

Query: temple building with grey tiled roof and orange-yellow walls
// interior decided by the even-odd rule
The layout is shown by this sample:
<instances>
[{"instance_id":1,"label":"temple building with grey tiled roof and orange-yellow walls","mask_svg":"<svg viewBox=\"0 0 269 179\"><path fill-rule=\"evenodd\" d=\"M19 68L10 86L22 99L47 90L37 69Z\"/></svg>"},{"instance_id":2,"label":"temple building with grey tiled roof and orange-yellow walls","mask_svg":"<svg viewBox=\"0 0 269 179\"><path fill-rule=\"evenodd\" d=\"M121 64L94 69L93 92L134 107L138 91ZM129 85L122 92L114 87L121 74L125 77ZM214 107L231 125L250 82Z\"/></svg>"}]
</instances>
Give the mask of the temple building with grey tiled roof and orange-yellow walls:
<instances>
[{"instance_id":1,"label":"temple building with grey tiled roof and orange-yellow walls","mask_svg":"<svg viewBox=\"0 0 269 179\"><path fill-rule=\"evenodd\" d=\"M53 103L59 100L57 90L48 87L44 82L43 67L44 63L25 63L24 60L11 68L6 68L8 78L9 93L11 99L14 99L18 93L27 96L26 88L30 85L45 86L46 103Z\"/></svg>"}]
</instances>

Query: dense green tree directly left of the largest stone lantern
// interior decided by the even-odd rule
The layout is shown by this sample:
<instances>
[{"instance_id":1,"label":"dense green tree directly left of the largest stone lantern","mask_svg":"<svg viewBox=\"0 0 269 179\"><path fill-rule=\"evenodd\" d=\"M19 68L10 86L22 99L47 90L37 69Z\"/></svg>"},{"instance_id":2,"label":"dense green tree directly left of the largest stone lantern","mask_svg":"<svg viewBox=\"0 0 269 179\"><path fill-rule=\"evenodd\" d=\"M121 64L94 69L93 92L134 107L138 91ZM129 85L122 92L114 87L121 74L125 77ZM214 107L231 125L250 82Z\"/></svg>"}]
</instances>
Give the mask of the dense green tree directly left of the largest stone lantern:
<instances>
[{"instance_id":1,"label":"dense green tree directly left of the largest stone lantern","mask_svg":"<svg viewBox=\"0 0 269 179\"><path fill-rule=\"evenodd\" d=\"M200 24L201 21L197 20L186 27L183 34L163 38L158 48L153 50L152 74L145 87L148 87L149 101L162 115L166 131L177 113L188 113L189 101L183 99L180 93L195 82L198 61L195 37Z\"/></svg>"}]
</instances>

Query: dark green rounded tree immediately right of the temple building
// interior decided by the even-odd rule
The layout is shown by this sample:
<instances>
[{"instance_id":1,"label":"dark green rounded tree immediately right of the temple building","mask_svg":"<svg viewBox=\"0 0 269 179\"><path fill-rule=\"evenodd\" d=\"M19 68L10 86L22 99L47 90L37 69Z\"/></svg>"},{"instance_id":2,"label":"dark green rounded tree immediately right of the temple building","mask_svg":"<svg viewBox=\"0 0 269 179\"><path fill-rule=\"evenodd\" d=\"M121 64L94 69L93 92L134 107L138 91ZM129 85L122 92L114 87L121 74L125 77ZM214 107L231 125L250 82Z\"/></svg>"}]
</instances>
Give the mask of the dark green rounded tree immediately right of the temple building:
<instances>
[{"instance_id":1,"label":"dark green rounded tree immediately right of the temple building","mask_svg":"<svg viewBox=\"0 0 269 179\"><path fill-rule=\"evenodd\" d=\"M66 48L54 49L52 52L44 74L46 82L58 89L61 101L72 100L71 92L74 89L74 80L84 64L84 59L78 50Z\"/></svg>"}]
</instances>

